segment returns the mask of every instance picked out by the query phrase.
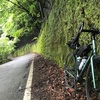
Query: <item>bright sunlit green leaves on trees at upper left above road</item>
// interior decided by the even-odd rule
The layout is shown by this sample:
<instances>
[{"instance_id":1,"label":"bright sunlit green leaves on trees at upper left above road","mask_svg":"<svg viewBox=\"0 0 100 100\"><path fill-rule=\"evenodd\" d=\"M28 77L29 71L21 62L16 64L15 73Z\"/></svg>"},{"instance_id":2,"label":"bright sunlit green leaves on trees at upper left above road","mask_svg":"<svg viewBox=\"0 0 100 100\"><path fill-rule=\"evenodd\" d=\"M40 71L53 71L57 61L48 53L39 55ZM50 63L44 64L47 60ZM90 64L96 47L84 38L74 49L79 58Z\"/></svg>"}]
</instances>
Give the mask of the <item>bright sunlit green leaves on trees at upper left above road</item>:
<instances>
[{"instance_id":1,"label":"bright sunlit green leaves on trees at upper left above road","mask_svg":"<svg viewBox=\"0 0 100 100\"><path fill-rule=\"evenodd\" d=\"M14 50L14 43L18 42L20 37L27 38L31 34L37 36L41 22L40 9L36 0L0 1L1 59ZM7 36L12 37L11 40Z\"/></svg>"}]
</instances>

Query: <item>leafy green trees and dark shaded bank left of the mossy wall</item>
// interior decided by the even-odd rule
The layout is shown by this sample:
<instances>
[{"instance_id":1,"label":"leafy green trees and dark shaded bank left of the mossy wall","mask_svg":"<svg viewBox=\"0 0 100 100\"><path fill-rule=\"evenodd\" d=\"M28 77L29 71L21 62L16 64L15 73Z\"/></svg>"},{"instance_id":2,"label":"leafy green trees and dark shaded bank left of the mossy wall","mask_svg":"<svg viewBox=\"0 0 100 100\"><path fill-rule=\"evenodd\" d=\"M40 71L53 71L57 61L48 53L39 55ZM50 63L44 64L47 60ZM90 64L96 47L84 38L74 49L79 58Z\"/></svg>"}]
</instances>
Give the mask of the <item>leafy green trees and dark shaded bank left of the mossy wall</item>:
<instances>
[{"instance_id":1,"label":"leafy green trees and dark shaded bank left of the mossy wall","mask_svg":"<svg viewBox=\"0 0 100 100\"><path fill-rule=\"evenodd\" d=\"M26 45L25 52L22 48L15 55L27 52L26 48L29 47L27 44L33 43L38 37L41 25L48 18L53 2L54 0L0 2L0 64L6 62L7 56L23 45Z\"/></svg>"}]
</instances>

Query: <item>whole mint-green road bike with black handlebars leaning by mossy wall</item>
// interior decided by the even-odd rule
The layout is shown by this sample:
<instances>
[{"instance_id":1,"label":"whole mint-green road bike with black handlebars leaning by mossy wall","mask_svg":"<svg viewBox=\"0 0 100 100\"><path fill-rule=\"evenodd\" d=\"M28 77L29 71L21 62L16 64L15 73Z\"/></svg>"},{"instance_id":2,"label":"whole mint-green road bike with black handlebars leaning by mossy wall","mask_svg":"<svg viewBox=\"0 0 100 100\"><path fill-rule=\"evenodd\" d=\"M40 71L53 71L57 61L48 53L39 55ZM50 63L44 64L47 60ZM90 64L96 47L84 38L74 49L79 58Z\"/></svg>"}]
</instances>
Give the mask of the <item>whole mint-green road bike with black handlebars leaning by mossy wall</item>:
<instances>
[{"instance_id":1,"label":"whole mint-green road bike with black handlebars leaning by mossy wall","mask_svg":"<svg viewBox=\"0 0 100 100\"><path fill-rule=\"evenodd\" d=\"M67 55L64 65L66 88L77 91L77 84L84 80L87 100L100 100L100 56L96 52L96 36L100 31L83 27L84 22L78 28L77 36L67 43L73 52ZM91 41L81 46L79 38L85 33L90 34Z\"/></svg>"}]
</instances>

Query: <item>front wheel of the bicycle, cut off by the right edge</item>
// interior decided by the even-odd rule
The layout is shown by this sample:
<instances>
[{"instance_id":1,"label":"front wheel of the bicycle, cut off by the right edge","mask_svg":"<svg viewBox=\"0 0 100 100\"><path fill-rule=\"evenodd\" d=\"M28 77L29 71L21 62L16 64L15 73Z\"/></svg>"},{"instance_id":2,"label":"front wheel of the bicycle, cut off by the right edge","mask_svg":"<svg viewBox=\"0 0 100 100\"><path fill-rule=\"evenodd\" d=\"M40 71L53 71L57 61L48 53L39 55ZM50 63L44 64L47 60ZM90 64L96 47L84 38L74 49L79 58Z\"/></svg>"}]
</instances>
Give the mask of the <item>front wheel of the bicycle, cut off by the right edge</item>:
<instances>
[{"instance_id":1,"label":"front wheel of the bicycle, cut off by the right edge","mask_svg":"<svg viewBox=\"0 0 100 100\"><path fill-rule=\"evenodd\" d=\"M97 58L95 58L96 60ZM95 61L94 60L94 61ZM100 62L99 62L100 65ZM100 67L94 63L95 81L98 90L100 90ZM87 100L100 100L100 93L93 88L91 66L88 66L86 74L86 97Z\"/></svg>"}]
</instances>

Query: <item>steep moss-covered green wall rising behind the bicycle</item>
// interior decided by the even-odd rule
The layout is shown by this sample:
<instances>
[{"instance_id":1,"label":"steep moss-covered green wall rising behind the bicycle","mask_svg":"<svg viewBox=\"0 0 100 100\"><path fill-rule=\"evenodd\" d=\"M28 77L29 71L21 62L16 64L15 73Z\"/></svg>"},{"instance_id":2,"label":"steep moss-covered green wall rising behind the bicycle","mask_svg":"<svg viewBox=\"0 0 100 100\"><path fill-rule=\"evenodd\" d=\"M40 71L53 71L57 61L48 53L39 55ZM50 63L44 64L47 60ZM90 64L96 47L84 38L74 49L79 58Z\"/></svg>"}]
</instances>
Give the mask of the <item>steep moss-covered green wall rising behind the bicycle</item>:
<instances>
[{"instance_id":1,"label":"steep moss-covered green wall rising behind the bicycle","mask_svg":"<svg viewBox=\"0 0 100 100\"><path fill-rule=\"evenodd\" d=\"M86 29L100 29L99 10L98 0L55 0L41 29L37 43L38 52L63 66L66 54L70 51L66 43L72 36L76 36L80 23L84 21ZM90 35L83 33L80 43L89 41ZM99 47L99 37L97 41Z\"/></svg>"}]
</instances>

